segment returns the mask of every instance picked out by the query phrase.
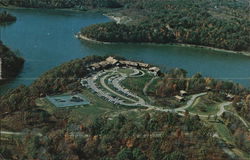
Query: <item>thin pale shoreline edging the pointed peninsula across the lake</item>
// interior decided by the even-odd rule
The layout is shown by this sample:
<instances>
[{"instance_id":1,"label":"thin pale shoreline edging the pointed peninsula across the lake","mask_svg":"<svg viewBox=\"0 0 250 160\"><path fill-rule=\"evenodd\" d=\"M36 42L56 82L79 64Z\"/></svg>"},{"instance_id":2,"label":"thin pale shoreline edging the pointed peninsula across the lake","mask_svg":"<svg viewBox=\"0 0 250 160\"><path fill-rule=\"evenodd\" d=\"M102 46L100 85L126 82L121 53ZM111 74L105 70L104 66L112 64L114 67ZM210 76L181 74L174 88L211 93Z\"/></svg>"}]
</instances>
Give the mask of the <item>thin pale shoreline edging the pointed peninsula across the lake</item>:
<instances>
[{"instance_id":1,"label":"thin pale shoreline edging the pointed peninsula across the lake","mask_svg":"<svg viewBox=\"0 0 250 160\"><path fill-rule=\"evenodd\" d=\"M81 33L77 33L75 35L76 38L80 40L85 40L85 41L90 41L94 43L100 43L100 44L124 44L126 42L103 42L103 41L98 41L95 39L88 38ZM130 44L129 42L128 44ZM207 49L207 50L212 50L212 51L217 51L217 52L224 52L224 53L230 53L230 54L237 54L237 55L243 55L243 56L248 56L250 57L250 52L245 52L245 51L232 51L232 50L226 50L226 49L220 49L220 48L214 48L214 47L208 47L208 46L201 46L201 45L193 45L193 44L185 44L185 43L140 43L136 42L137 44L154 44L154 45L171 45L171 46L181 46L181 47L192 47L192 48L201 48L201 49ZM135 43L133 43L135 44Z\"/></svg>"}]
</instances>

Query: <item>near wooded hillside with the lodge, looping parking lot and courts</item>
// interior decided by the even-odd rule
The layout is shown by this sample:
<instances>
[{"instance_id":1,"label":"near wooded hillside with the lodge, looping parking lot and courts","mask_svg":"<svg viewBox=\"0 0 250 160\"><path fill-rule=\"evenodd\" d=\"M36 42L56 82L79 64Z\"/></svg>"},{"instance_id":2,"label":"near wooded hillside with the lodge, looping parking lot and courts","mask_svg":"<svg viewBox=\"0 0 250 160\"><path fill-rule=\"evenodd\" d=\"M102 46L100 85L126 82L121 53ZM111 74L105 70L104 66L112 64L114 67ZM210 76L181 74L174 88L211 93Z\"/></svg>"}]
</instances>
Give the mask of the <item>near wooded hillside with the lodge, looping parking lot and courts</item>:
<instances>
[{"instance_id":1,"label":"near wooded hillside with the lodge, looping parking lot and courts","mask_svg":"<svg viewBox=\"0 0 250 160\"><path fill-rule=\"evenodd\" d=\"M7 159L57 160L249 156L249 134L241 120L226 112L214 115L218 106L231 104L225 93L237 95L238 102L245 104L248 90L200 74L187 78L187 72L182 69L160 76L148 72L149 68L114 69L106 63L107 59L117 61L106 58L91 56L70 61L44 73L31 86L20 86L0 97L0 110L4 113L1 115L2 143L6 144L0 147L2 155ZM148 67L142 62L115 58L120 63ZM105 70L96 70L99 64ZM157 79L145 95L144 84L153 77ZM119 88L117 81L121 81L126 90ZM205 93L206 86L210 87L209 93ZM176 100L174 95L185 88L189 95L184 102ZM102 94L104 90L106 94ZM90 103L58 107L50 101L54 99L61 104L65 102L63 96L76 93L84 95ZM113 103L102 97L108 95L125 99ZM139 98L136 103L135 98ZM148 105L150 99L154 102ZM190 112L182 109L187 108L186 103L190 104L187 106L191 107Z\"/></svg>"}]
</instances>

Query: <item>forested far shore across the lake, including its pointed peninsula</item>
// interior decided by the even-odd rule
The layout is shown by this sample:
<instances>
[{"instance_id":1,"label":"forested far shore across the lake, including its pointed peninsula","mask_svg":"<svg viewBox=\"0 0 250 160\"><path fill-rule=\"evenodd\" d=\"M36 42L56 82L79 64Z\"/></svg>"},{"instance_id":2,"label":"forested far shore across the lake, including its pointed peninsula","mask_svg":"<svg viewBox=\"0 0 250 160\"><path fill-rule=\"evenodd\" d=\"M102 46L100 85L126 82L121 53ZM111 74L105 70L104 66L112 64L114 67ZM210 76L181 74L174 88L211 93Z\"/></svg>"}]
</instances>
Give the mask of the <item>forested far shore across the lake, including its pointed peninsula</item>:
<instances>
[{"instance_id":1,"label":"forested far shore across the lake, including its pointed peninsula","mask_svg":"<svg viewBox=\"0 0 250 160\"><path fill-rule=\"evenodd\" d=\"M247 0L3 0L5 7L100 10L129 21L83 28L82 37L102 42L179 43L250 51Z\"/></svg>"}]
</instances>

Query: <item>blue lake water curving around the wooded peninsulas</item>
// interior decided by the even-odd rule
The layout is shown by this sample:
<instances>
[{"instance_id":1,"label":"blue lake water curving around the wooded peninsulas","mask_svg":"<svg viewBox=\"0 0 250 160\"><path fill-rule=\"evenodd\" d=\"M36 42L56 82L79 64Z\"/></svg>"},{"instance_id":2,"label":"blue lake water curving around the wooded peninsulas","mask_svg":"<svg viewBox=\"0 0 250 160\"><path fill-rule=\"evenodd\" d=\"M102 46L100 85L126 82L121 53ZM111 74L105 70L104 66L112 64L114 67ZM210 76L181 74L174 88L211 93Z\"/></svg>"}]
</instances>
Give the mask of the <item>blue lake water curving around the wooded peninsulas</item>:
<instances>
[{"instance_id":1,"label":"blue lake water curving around the wooded peninsulas","mask_svg":"<svg viewBox=\"0 0 250 160\"><path fill-rule=\"evenodd\" d=\"M74 34L84 26L110 21L101 14L37 9L8 11L17 17L17 22L1 27L1 40L12 50L18 50L26 62L15 80L0 86L1 93L20 84L29 85L63 62L93 54L121 55L164 69L180 67L190 75L201 72L204 76L250 86L250 57L167 45L94 44L80 41Z\"/></svg>"}]
</instances>

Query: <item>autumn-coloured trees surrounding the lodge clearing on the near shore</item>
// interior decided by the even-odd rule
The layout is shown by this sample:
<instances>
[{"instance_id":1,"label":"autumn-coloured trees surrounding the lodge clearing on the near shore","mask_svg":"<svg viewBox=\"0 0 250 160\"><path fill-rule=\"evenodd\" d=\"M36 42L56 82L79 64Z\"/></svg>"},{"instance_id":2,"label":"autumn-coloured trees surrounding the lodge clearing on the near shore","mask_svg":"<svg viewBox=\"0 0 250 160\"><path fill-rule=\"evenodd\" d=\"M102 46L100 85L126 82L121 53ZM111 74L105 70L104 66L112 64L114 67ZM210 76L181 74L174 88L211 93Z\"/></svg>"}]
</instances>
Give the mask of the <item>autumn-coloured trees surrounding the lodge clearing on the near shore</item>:
<instances>
[{"instance_id":1,"label":"autumn-coloured trees surrounding the lodge clearing on the near shore","mask_svg":"<svg viewBox=\"0 0 250 160\"><path fill-rule=\"evenodd\" d=\"M39 108L35 100L46 95L56 95L66 92L81 92L79 77L89 74L87 66L100 62L106 57L89 56L72 60L44 73L31 86L20 86L9 93L0 96L0 111L4 113L2 128L23 130L24 128L40 128L42 137L26 135L19 144L23 150L18 155L7 147L1 147L1 152L7 158L17 156L17 159L79 160L183 160L183 159L229 159L222 151L222 142L213 137L212 126L204 125L199 116L191 116L189 112L181 117L176 113L145 112L137 120L119 115L113 120L99 116L85 123L70 122L67 117L69 110L61 110L54 114ZM187 78L183 69L172 69L163 74L156 91L151 93L156 97L169 97L177 90L189 88L190 92L200 92L205 86L210 86L217 93L210 95L218 97L221 92L232 92L235 98L235 108L240 115L249 110L249 91L231 82L204 78L199 73ZM248 112L247 112L248 113ZM243 115L249 120L249 115ZM239 138L239 146L246 150L249 146L241 145L242 132L235 129L230 116L223 115L227 125ZM217 123L221 123L216 120ZM238 123L238 122L237 122ZM239 123L241 124L241 122ZM77 128L77 129L73 129ZM237 127L236 127L237 128ZM244 127L243 127L244 128ZM72 135L75 133L76 135ZM242 142L243 144L243 142ZM245 143L244 143L245 144ZM19 146L19 147L20 147ZM43 152L40 152L40 151Z\"/></svg>"}]
</instances>

